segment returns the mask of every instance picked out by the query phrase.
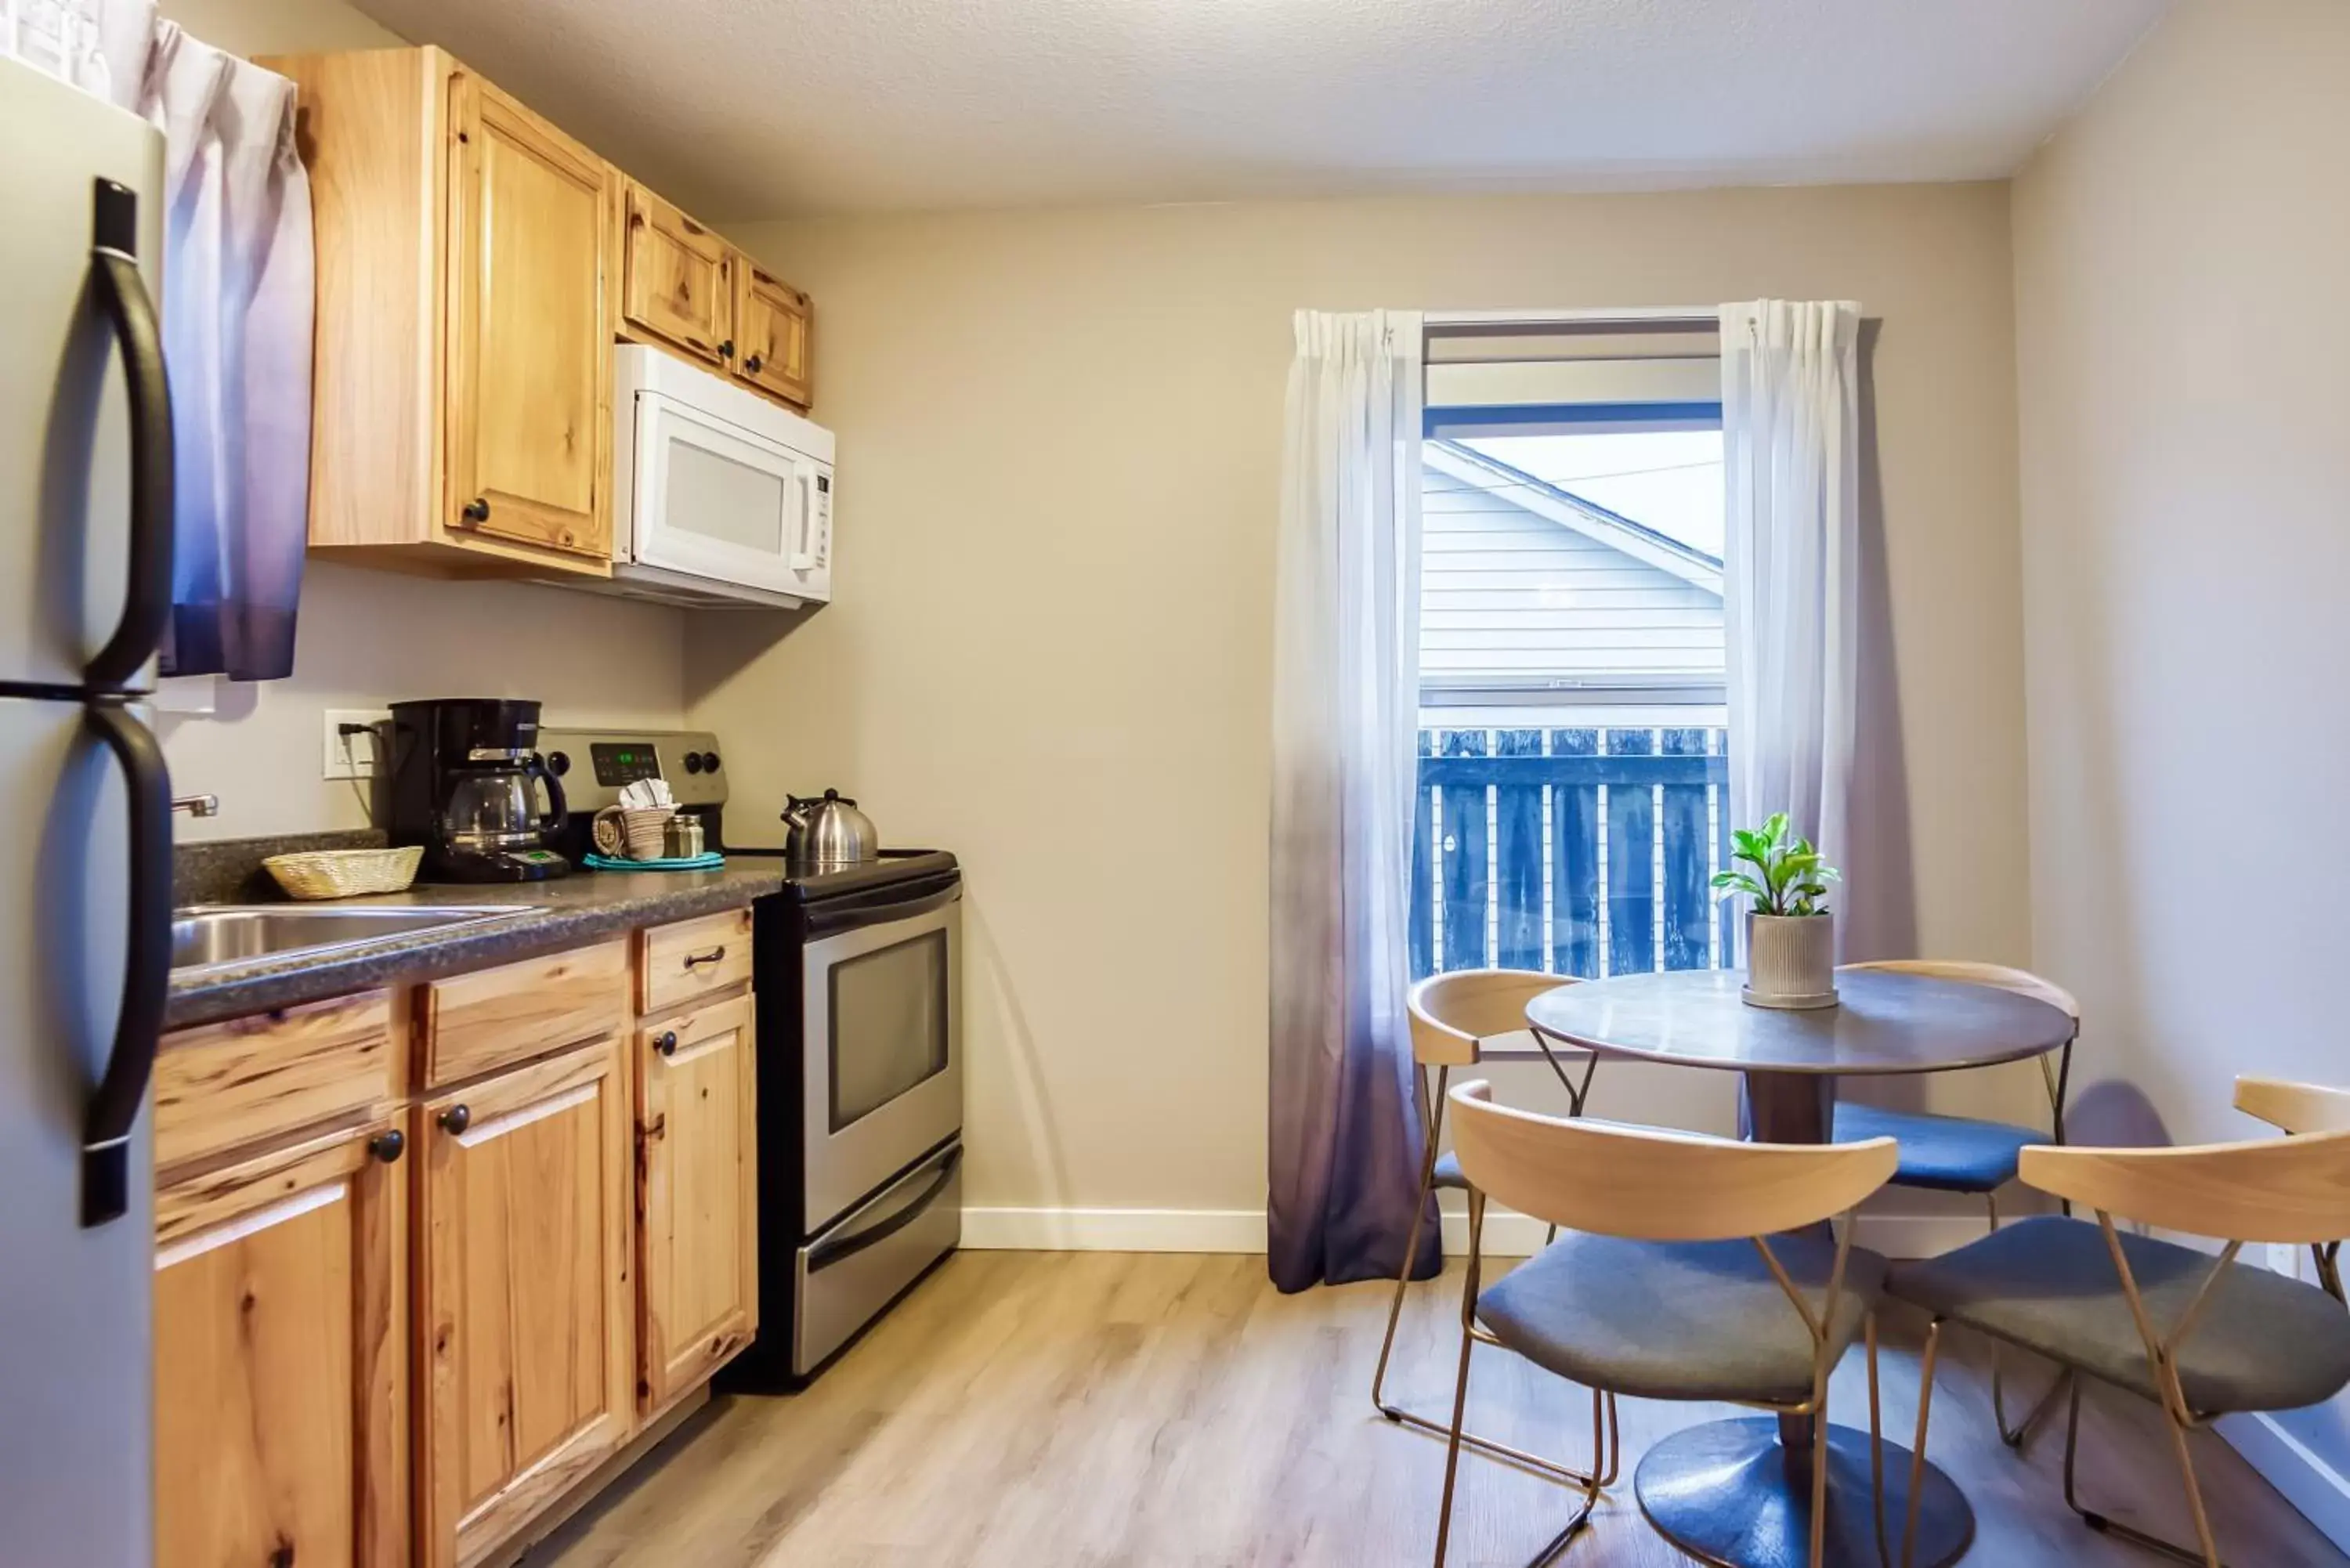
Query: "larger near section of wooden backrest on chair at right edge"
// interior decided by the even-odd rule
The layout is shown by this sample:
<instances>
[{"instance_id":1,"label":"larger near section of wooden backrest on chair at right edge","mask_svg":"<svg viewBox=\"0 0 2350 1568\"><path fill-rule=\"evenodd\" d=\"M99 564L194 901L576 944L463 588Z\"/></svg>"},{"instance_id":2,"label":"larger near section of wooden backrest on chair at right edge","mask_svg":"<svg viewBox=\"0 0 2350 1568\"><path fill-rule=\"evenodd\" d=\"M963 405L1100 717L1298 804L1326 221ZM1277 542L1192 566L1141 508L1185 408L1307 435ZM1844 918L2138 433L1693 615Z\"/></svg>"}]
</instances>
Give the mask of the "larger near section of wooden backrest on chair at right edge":
<instances>
[{"instance_id":1,"label":"larger near section of wooden backrest on chair at right edge","mask_svg":"<svg viewBox=\"0 0 2350 1568\"><path fill-rule=\"evenodd\" d=\"M2023 1150L2028 1185L2124 1220L2221 1241L2350 1237L2350 1131L2181 1150Z\"/></svg>"}]
</instances>

